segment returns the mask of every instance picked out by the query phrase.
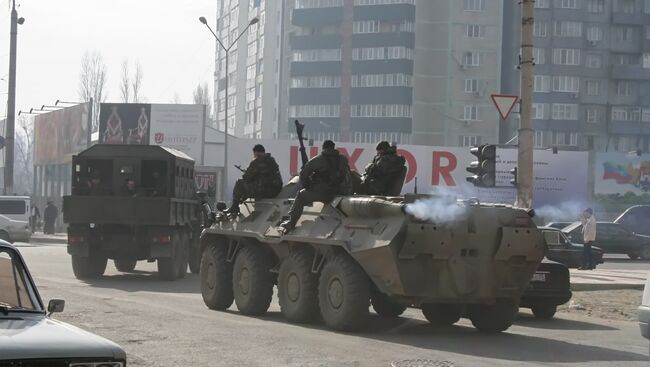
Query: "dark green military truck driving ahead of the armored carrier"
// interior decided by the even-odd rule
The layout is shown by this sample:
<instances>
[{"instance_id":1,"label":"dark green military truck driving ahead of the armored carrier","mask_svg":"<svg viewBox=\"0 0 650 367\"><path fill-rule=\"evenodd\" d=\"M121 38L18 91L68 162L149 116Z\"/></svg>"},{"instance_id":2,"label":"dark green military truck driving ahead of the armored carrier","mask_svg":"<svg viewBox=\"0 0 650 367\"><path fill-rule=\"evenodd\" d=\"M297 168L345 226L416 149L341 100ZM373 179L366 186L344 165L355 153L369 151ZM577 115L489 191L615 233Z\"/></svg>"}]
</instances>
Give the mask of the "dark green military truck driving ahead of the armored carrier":
<instances>
[{"instance_id":1,"label":"dark green military truck driving ahead of the armored carrier","mask_svg":"<svg viewBox=\"0 0 650 367\"><path fill-rule=\"evenodd\" d=\"M194 161L154 145L94 145L72 158L72 195L63 198L68 253L77 278L157 261L166 280L198 273L200 201Z\"/></svg>"}]
</instances>

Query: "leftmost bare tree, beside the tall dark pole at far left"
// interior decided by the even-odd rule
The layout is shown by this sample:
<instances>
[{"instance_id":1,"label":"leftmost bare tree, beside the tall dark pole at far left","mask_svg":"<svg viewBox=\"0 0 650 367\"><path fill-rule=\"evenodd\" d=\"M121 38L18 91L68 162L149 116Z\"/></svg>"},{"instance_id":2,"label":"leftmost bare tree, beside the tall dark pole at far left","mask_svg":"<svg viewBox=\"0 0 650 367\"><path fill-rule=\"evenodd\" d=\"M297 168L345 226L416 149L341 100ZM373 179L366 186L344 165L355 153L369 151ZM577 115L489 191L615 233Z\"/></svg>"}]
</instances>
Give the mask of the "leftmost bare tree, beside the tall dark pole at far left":
<instances>
[{"instance_id":1,"label":"leftmost bare tree, beside the tall dark pole at far left","mask_svg":"<svg viewBox=\"0 0 650 367\"><path fill-rule=\"evenodd\" d=\"M15 187L23 187L24 194L31 194L34 180L34 120L19 116L16 129Z\"/></svg>"}]
</instances>

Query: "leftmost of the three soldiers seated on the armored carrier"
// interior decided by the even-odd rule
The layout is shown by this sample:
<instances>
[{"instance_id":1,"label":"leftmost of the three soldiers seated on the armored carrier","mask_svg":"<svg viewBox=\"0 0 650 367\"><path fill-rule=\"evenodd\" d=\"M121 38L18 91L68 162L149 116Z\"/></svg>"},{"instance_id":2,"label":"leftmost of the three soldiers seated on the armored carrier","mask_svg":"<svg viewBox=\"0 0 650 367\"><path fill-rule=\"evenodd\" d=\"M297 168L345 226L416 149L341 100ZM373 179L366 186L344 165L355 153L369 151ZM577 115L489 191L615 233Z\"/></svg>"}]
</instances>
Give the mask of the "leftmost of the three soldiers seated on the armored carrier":
<instances>
[{"instance_id":1,"label":"leftmost of the three soldiers seated on the armored carrier","mask_svg":"<svg viewBox=\"0 0 650 367\"><path fill-rule=\"evenodd\" d=\"M253 157L242 178L235 183L229 213L239 213L239 204L248 198L273 198L282 190L280 167L271 154L266 153L264 146L255 145Z\"/></svg>"}]
</instances>

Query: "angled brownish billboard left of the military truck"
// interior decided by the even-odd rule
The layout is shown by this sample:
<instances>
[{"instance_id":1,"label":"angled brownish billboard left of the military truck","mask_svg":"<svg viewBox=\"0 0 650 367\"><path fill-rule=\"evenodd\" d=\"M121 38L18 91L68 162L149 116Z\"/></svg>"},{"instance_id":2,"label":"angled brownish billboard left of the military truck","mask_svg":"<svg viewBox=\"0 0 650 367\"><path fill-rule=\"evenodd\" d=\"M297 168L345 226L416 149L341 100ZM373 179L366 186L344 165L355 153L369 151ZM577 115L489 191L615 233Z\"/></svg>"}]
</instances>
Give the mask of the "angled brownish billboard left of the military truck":
<instances>
[{"instance_id":1,"label":"angled brownish billboard left of the military truck","mask_svg":"<svg viewBox=\"0 0 650 367\"><path fill-rule=\"evenodd\" d=\"M82 103L34 118L34 164L69 162L88 147L90 104Z\"/></svg>"}]
</instances>

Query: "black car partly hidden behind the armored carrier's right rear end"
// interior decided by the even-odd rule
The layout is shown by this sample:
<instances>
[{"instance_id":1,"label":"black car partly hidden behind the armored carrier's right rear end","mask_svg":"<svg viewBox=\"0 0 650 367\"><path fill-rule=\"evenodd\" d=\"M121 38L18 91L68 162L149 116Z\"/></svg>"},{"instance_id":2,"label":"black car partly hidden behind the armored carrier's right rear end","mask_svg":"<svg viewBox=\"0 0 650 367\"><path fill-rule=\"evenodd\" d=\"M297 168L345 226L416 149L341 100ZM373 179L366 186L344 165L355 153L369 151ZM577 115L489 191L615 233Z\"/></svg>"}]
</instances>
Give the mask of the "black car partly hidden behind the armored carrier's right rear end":
<instances>
[{"instance_id":1,"label":"black car partly hidden behind the armored carrier's right rear end","mask_svg":"<svg viewBox=\"0 0 650 367\"><path fill-rule=\"evenodd\" d=\"M530 308L538 319L552 319L557 306L569 302L571 296L569 269L544 259L521 297L519 307Z\"/></svg>"}]
</instances>

